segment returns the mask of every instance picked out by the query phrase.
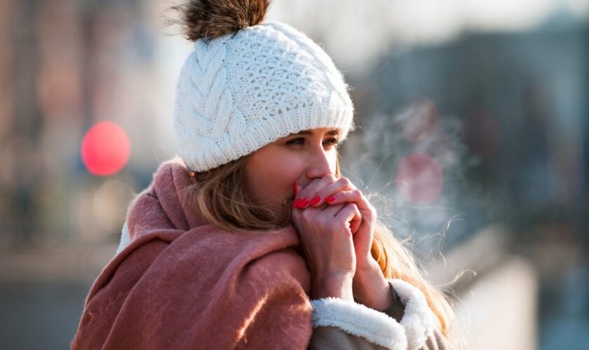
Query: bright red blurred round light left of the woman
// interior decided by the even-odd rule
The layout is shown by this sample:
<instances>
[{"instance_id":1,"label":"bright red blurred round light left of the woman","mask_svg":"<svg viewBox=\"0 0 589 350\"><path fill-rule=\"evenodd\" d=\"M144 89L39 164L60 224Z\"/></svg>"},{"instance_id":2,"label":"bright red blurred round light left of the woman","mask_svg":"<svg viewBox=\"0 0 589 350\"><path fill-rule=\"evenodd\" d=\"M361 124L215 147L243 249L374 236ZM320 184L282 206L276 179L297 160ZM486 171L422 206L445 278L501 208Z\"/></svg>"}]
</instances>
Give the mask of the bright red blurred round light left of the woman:
<instances>
[{"instance_id":1,"label":"bright red blurred round light left of the woman","mask_svg":"<svg viewBox=\"0 0 589 350\"><path fill-rule=\"evenodd\" d=\"M96 176L116 174L127 164L129 155L127 133L110 121L91 127L82 140L82 161L88 172Z\"/></svg>"}]
</instances>

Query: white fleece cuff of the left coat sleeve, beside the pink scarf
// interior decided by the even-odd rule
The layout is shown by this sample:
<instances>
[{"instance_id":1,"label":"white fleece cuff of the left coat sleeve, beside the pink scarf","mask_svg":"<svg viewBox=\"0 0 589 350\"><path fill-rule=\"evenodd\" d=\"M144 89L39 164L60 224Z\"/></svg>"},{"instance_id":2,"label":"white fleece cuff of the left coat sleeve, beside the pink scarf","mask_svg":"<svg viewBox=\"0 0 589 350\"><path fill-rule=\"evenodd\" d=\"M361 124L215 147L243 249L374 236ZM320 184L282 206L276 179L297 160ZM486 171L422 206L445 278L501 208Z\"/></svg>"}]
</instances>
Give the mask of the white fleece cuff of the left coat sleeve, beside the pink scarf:
<instances>
[{"instance_id":1,"label":"white fleece cuff of the left coat sleeve, beside the pink scarf","mask_svg":"<svg viewBox=\"0 0 589 350\"><path fill-rule=\"evenodd\" d=\"M363 304L338 297L311 300L313 328L337 327L387 349L407 349L405 330L393 318Z\"/></svg>"}]
</instances>

